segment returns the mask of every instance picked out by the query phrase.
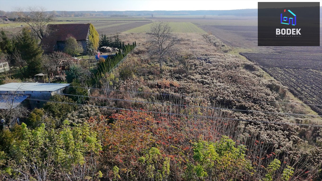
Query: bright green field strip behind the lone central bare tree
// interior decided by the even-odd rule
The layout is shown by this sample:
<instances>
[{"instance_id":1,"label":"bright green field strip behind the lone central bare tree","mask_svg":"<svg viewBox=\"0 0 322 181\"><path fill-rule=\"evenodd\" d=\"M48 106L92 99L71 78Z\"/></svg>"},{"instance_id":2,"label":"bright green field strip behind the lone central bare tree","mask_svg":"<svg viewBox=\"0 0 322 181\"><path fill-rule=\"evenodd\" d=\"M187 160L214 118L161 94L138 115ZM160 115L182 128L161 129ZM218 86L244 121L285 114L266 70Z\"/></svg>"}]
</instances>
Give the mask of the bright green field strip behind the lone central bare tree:
<instances>
[{"instance_id":1,"label":"bright green field strip behind the lone central bare tree","mask_svg":"<svg viewBox=\"0 0 322 181\"><path fill-rule=\"evenodd\" d=\"M169 25L176 33L207 33L191 22L169 22ZM124 33L141 33L150 30L151 23L124 31Z\"/></svg>"}]
</instances>

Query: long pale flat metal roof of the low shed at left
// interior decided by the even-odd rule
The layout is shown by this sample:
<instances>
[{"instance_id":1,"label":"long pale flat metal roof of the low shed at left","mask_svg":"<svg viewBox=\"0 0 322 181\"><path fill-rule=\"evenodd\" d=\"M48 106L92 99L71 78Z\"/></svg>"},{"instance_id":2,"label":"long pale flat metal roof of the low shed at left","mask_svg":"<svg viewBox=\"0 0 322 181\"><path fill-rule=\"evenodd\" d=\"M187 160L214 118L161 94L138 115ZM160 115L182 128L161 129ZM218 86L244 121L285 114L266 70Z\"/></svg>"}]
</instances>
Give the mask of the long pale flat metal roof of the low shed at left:
<instances>
[{"instance_id":1,"label":"long pale flat metal roof of the low shed at left","mask_svg":"<svg viewBox=\"0 0 322 181\"><path fill-rule=\"evenodd\" d=\"M0 91L55 91L69 86L69 83L7 83L0 85Z\"/></svg>"}]
</instances>

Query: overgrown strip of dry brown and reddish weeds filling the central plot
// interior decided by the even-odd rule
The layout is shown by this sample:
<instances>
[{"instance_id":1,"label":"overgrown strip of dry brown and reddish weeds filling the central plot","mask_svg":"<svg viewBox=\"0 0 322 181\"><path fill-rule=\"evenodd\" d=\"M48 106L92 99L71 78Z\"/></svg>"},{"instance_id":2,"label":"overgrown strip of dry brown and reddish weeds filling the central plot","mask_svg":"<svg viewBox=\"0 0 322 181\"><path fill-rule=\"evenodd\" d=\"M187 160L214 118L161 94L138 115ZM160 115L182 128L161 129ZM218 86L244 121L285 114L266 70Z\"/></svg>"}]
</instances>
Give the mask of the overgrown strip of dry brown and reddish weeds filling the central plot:
<instances>
[{"instance_id":1,"label":"overgrown strip of dry brown and reddish weeds filling the central plot","mask_svg":"<svg viewBox=\"0 0 322 181\"><path fill-rule=\"evenodd\" d=\"M176 55L166 60L163 73L156 59L147 56L145 44L140 43L113 76L102 80L107 90L93 94L105 99L95 98L90 100L92 103L138 110L106 112L113 114L111 119L116 125L98 128L104 130L101 137L109 148L102 156L104 165L108 165L104 170L108 172L117 166L121 180L146 178L146 168L138 158L153 147L162 155L156 157L160 167L166 158L170 159L169 178L181 180L186 174L185 161L193 162L191 142L217 142L221 135L227 135L237 145L246 146L247 158L255 170L253 175L244 173L242 179L263 178L265 168L275 158L282 162L276 180L281 179L279 174L287 165L295 168L291 180L317 178L322 161L320 128L277 122L317 124L320 119L267 113L310 112L303 111L304 106L274 103L289 102L287 88L264 78L264 72L254 63L226 54L225 45L212 35L178 36L181 43ZM123 34L122 38L128 42L146 40L145 34L140 33ZM116 97L118 100L111 99ZM110 177L115 176L115 172L109 173Z\"/></svg>"}]
</instances>

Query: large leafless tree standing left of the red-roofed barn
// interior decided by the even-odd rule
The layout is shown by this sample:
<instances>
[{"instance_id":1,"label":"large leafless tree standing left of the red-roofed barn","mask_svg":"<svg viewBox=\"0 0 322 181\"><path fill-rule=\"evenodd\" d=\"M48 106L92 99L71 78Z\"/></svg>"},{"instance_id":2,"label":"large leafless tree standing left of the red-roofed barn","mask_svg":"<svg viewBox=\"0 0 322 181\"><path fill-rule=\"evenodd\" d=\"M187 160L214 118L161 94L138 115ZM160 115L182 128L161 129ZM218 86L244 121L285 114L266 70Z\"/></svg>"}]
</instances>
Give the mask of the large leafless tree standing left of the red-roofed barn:
<instances>
[{"instance_id":1,"label":"large leafless tree standing left of the red-roofed barn","mask_svg":"<svg viewBox=\"0 0 322 181\"><path fill-rule=\"evenodd\" d=\"M54 16L45 12L43 7L29 7L26 11L18 8L14 12L20 20L27 23L37 37L43 39L46 33L46 25L54 21Z\"/></svg>"}]
</instances>

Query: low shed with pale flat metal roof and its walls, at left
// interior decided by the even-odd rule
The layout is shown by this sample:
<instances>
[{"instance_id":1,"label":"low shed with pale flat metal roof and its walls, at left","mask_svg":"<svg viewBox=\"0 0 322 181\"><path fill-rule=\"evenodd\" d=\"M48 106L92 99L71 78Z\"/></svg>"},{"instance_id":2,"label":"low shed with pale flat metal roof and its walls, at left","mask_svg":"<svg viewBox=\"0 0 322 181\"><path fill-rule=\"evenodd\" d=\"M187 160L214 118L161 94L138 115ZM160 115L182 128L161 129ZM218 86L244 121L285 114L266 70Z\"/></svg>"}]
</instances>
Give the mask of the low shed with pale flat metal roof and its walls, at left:
<instances>
[{"instance_id":1,"label":"low shed with pale flat metal roof and its walls, at left","mask_svg":"<svg viewBox=\"0 0 322 181\"><path fill-rule=\"evenodd\" d=\"M69 83L7 83L0 85L0 95L2 97L8 97L6 95L16 95L21 96L21 99L17 99L16 103L23 101L29 97L29 102L31 108L40 108L49 100L53 95L63 93ZM9 99L10 100L10 99ZM5 102L3 106L5 108Z\"/></svg>"}]
</instances>

